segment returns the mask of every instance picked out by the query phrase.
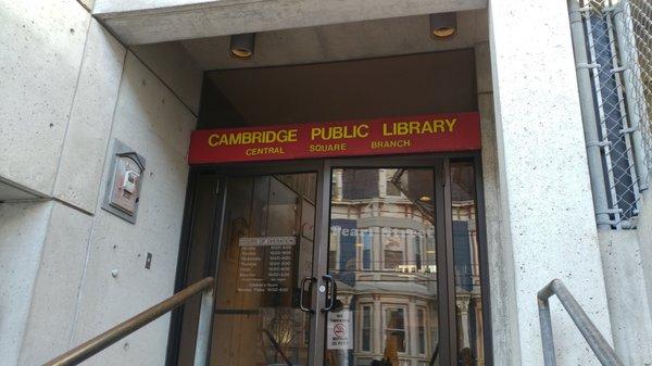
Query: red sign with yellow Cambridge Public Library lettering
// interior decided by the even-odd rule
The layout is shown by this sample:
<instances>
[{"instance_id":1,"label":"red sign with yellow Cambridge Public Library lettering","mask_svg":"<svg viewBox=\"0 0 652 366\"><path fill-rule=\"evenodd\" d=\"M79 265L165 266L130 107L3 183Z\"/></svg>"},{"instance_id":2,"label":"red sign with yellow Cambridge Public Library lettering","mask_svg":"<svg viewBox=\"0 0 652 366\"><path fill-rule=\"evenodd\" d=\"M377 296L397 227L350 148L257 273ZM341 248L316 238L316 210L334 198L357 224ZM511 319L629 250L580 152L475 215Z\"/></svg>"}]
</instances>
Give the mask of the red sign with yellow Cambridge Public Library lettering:
<instances>
[{"instance_id":1,"label":"red sign with yellow Cambridge Public Library lettering","mask_svg":"<svg viewBox=\"0 0 652 366\"><path fill-rule=\"evenodd\" d=\"M477 112L192 132L190 164L480 149Z\"/></svg>"}]
</instances>

